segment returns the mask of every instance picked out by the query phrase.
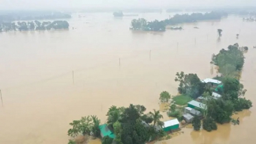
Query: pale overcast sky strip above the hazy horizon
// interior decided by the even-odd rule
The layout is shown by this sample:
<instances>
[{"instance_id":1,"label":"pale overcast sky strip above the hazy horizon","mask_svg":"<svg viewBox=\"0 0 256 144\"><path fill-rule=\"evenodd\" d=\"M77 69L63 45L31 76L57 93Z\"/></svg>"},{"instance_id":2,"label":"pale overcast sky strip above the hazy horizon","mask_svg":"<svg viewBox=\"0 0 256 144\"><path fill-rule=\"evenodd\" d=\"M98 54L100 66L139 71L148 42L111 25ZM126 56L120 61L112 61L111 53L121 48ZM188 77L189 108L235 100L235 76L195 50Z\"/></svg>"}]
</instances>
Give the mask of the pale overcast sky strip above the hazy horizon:
<instances>
[{"instance_id":1,"label":"pale overcast sky strip above the hazy horizon","mask_svg":"<svg viewBox=\"0 0 256 144\"><path fill-rule=\"evenodd\" d=\"M1 10L190 6L256 6L256 0L0 0Z\"/></svg>"}]
</instances>

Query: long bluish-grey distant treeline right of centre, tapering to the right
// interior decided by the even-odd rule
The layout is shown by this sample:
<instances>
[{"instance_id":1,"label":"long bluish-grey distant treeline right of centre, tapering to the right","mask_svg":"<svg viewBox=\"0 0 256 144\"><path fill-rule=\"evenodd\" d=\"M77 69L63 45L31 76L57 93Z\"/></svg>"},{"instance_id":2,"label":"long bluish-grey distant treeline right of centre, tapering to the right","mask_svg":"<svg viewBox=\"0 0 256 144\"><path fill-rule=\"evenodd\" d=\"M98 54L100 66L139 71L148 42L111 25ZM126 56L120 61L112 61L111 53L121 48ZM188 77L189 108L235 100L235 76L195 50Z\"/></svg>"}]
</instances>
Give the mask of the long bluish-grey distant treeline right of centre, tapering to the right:
<instances>
[{"instance_id":1,"label":"long bluish-grey distant treeline right of centre, tapering to the right","mask_svg":"<svg viewBox=\"0 0 256 144\"><path fill-rule=\"evenodd\" d=\"M196 21L206 21L213 19L221 19L222 16L227 16L225 12L210 12L210 13L193 13L193 14L176 14L170 19L163 21L146 21L146 19L133 19L132 30L143 30L143 31L165 31L166 25L176 25L180 23L193 23Z\"/></svg>"}]
</instances>

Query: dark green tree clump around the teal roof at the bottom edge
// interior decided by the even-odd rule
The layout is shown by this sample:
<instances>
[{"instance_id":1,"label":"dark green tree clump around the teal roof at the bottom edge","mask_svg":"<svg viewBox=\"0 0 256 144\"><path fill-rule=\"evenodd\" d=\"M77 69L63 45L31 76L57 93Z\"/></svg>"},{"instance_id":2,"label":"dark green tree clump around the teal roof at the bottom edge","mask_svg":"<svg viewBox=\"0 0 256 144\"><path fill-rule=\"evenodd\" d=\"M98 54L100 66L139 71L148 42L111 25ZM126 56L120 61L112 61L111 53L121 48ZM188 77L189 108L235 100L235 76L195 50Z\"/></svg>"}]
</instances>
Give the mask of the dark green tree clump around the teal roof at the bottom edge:
<instances>
[{"instance_id":1,"label":"dark green tree clump around the teal roof at the bottom edge","mask_svg":"<svg viewBox=\"0 0 256 144\"><path fill-rule=\"evenodd\" d=\"M69 123L72 128L68 130L68 135L72 137L69 144L77 144L86 141L88 136L101 138L102 144L141 144L154 139L159 139L166 133L158 129L163 125L163 116L159 110L145 113L146 108L141 105L125 107L111 106L106 114L107 122L101 125L100 119L96 116L82 117ZM100 128L104 127L109 136L101 137ZM115 134L115 136L114 136Z\"/></svg>"}]
</instances>

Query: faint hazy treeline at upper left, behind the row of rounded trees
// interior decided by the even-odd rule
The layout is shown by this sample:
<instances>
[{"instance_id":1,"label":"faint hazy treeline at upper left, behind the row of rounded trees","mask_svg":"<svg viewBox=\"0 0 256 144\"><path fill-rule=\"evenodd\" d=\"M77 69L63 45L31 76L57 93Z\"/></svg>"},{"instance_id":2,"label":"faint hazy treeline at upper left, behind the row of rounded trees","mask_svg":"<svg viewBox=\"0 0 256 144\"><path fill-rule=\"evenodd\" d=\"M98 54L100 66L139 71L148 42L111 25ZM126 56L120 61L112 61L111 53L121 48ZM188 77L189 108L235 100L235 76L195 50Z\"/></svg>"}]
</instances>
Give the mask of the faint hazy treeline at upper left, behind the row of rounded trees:
<instances>
[{"instance_id":1,"label":"faint hazy treeline at upper left, behind the row of rounded trees","mask_svg":"<svg viewBox=\"0 0 256 144\"><path fill-rule=\"evenodd\" d=\"M43 19L70 19L70 14L46 11L0 11L0 23Z\"/></svg>"}]
</instances>

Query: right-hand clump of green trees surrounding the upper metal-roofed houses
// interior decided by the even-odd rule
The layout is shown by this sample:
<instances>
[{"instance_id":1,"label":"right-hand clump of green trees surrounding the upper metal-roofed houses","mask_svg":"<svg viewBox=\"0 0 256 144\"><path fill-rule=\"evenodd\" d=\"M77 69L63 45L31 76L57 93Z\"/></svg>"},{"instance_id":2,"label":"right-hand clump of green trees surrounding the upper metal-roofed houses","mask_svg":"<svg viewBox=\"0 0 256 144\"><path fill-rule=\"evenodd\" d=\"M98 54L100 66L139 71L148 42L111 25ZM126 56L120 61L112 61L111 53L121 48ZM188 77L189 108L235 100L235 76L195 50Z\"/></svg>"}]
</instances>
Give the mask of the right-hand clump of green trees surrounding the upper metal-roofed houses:
<instances>
[{"instance_id":1,"label":"right-hand clump of green trees surrounding the upper metal-roofed houses","mask_svg":"<svg viewBox=\"0 0 256 144\"><path fill-rule=\"evenodd\" d=\"M231 118L233 113L253 106L251 100L244 97L246 89L240 83L240 75L244 65L244 51L248 51L248 47L239 47L236 43L229 45L227 49L220 50L216 55L213 54L211 64L218 66L218 72L221 73L220 76L213 77L213 80L221 82L215 87L202 82L195 73L176 73L175 81L180 82L178 92L181 95L172 98L170 111L167 112L167 115L182 121L184 118L183 108L194 99L202 104L201 108L195 108L202 115L201 117L194 115L192 121L194 130L200 130L202 125L203 129L210 132L218 129L216 123L222 124L232 121L239 124L239 119ZM167 101L166 97L170 99L170 96L165 94L165 101ZM202 119L202 123L200 119Z\"/></svg>"}]
</instances>

